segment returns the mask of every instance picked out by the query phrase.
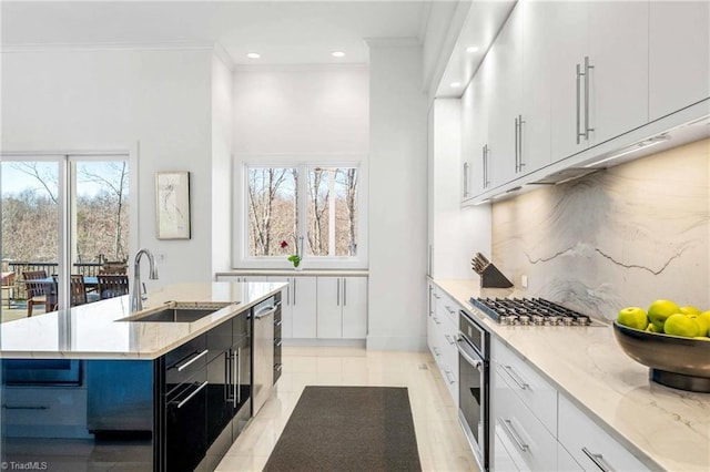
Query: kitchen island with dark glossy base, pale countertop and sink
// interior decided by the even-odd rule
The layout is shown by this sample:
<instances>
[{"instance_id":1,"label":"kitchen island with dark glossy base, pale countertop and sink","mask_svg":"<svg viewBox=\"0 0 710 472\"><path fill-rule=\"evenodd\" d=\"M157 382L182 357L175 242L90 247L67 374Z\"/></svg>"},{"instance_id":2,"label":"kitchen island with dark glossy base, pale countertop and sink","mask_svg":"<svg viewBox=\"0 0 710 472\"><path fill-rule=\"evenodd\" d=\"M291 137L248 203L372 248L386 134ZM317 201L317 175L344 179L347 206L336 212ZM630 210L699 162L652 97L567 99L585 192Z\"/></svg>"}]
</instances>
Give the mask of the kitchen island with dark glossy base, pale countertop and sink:
<instances>
[{"instance_id":1,"label":"kitchen island with dark glossy base, pale countertop and sink","mask_svg":"<svg viewBox=\"0 0 710 472\"><path fill-rule=\"evenodd\" d=\"M123 296L3 324L2 461L214 469L251 418L253 394L276 378L267 366L273 377L254 383L253 330L262 320L274 336L284 287L172 285L151 291L140 314ZM199 317L156 320L175 306Z\"/></svg>"}]
</instances>

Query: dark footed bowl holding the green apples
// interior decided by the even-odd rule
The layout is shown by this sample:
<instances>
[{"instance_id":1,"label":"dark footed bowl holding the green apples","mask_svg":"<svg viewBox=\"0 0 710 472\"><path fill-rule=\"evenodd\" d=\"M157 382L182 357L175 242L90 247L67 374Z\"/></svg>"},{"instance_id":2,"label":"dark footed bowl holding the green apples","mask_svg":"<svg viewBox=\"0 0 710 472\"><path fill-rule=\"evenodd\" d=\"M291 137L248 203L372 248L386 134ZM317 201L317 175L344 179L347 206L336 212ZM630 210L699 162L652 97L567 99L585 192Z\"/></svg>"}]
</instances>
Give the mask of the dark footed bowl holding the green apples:
<instances>
[{"instance_id":1,"label":"dark footed bowl holding the green apples","mask_svg":"<svg viewBox=\"0 0 710 472\"><path fill-rule=\"evenodd\" d=\"M710 392L710 341L629 328L613 321L617 342L631 359L651 368L651 380Z\"/></svg>"}]
</instances>

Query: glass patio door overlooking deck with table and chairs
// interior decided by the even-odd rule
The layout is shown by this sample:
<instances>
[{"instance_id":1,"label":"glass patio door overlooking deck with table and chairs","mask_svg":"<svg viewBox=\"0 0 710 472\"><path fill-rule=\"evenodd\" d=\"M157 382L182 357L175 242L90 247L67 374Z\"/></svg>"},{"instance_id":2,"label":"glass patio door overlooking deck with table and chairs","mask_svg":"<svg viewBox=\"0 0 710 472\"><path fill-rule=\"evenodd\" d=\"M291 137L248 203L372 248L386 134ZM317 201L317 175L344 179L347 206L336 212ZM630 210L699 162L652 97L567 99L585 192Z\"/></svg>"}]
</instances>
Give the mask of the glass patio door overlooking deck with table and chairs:
<instances>
[{"instance_id":1,"label":"glass patio door overlooking deck with table and chairs","mask_svg":"<svg viewBox=\"0 0 710 472\"><path fill-rule=\"evenodd\" d=\"M2 155L0 194L2 322L97 301L128 260L128 155Z\"/></svg>"}]
</instances>

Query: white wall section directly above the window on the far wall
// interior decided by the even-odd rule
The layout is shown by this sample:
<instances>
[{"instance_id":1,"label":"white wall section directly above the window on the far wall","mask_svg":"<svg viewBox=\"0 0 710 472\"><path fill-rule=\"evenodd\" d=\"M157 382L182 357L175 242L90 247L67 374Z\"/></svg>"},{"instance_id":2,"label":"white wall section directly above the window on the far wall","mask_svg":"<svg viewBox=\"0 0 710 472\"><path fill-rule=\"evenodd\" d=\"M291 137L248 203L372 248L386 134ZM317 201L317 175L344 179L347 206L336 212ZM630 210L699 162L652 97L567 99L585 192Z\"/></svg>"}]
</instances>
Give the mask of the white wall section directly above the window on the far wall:
<instances>
[{"instance_id":1,"label":"white wall section directly above the window on the far wall","mask_svg":"<svg viewBox=\"0 0 710 472\"><path fill-rule=\"evenodd\" d=\"M366 154L368 70L357 65L237 69L236 154Z\"/></svg>"}]
</instances>

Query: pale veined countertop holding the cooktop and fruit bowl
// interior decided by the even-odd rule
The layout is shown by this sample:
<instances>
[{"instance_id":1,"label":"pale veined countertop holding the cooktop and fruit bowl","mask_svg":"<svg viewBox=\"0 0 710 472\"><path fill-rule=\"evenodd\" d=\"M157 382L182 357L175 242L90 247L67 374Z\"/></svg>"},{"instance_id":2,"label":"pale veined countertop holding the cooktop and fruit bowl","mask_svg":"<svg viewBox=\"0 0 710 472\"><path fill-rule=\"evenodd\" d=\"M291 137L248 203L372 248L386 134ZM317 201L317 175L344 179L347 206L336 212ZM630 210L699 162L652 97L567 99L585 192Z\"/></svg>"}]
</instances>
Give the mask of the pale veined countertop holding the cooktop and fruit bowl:
<instances>
[{"instance_id":1,"label":"pale veined countertop holding the cooktop and fruit bowl","mask_svg":"<svg viewBox=\"0 0 710 472\"><path fill-rule=\"evenodd\" d=\"M650 469L710 470L710 393L649 380L648 367L617 345L611 325L503 326L468 302L481 296L477 281L434 283ZM483 296L491 296L488 291Z\"/></svg>"}]
</instances>

